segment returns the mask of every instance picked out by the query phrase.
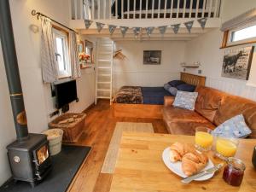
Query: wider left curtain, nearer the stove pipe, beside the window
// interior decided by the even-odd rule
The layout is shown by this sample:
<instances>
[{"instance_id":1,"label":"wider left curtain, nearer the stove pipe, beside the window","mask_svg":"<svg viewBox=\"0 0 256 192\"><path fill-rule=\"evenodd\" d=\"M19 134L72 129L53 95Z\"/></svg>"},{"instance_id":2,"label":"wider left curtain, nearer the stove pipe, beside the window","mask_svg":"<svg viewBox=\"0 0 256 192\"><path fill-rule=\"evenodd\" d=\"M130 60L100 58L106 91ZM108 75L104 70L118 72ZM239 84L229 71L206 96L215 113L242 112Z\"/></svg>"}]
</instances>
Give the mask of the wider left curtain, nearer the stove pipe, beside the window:
<instances>
[{"instance_id":1,"label":"wider left curtain, nearer the stove pipe, beside the window","mask_svg":"<svg viewBox=\"0 0 256 192\"><path fill-rule=\"evenodd\" d=\"M55 46L52 36L51 20L41 16L41 66L44 83L53 83L58 79L55 60Z\"/></svg>"}]
</instances>

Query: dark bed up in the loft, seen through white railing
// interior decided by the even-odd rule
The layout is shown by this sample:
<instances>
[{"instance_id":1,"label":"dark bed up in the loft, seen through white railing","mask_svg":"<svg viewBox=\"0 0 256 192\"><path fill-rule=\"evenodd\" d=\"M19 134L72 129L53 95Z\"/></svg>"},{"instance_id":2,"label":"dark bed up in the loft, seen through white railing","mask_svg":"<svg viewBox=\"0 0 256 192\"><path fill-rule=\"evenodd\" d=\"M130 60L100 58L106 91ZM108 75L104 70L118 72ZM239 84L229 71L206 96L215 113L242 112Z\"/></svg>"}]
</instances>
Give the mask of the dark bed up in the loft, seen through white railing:
<instances>
[{"instance_id":1,"label":"dark bed up in the loft, seen through white railing","mask_svg":"<svg viewBox=\"0 0 256 192\"><path fill-rule=\"evenodd\" d=\"M211 9L209 8L209 6L207 6L207 0L205 4L204 4L204 0L199 0L198 5L195 0L185 0L186 1L185 5L184 5L185 1L178 1L178 0L166 0L166 4L165 4L165 1L160 1L160 4L159 4L158 0L148 0L148 10L147 10L147 0L142 0L142 5L140 4L140 1L135 1L135 5L133 0L130 0L129 4L128 4L128 1L129 0L115 0L111 8L112 15L113 16L117 15L118 18L120 19L122 16L122 7L123 7L123 16L125 19L128 18L128 15L129 15L129 18L133 18L134 16L135 18L139 18L140 15L142 16L142 18L145 18L146 16L148 18L154 18L154 17L158 17L158 13L160 13L160 18L163 18L165 13L166 13L166 18L183 17L183 11L184 11L185 18L189 17L189 13L191 13L192 17L193 15L195 16L195 13L198 14L197 15L198 17L201 17L202 13L204 13L204 16L208 17L208 16L212 16L215 10L213 5ZM122 2L123 2L123 5L122 5ZM191 9L190 9L190 6L191 6ZM172 10L171 10L171 7L172 7ZM153 9L154 9L154 13L152 13ZM172 15L171 15L171 12L172 12ZM179 15L177 15L177 13L179 13Z\"/></svg>"}]
</instances>

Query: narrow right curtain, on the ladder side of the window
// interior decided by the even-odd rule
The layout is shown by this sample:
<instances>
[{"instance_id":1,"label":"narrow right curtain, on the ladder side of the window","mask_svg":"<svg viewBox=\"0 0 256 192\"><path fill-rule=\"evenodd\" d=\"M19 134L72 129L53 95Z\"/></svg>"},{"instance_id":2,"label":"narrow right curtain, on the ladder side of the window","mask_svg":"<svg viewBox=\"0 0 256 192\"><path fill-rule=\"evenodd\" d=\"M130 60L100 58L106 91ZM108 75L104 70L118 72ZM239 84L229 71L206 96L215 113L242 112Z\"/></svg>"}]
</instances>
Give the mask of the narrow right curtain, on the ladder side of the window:
<instances>
[{"instance_id":1,"label":"narrow right curtain, on the ladder side of the window","mask_svg":"<svg viewBox=\"0 0 256 192\"><path fill-rule=\"evenodd\" d=\"M72 78L81 77L81 71L79 66L79 52L77 46L77 35L76 32L69 32L69 52L70 52L70 63L71 63L71 76Z\"/></svg>"}]
</instances>

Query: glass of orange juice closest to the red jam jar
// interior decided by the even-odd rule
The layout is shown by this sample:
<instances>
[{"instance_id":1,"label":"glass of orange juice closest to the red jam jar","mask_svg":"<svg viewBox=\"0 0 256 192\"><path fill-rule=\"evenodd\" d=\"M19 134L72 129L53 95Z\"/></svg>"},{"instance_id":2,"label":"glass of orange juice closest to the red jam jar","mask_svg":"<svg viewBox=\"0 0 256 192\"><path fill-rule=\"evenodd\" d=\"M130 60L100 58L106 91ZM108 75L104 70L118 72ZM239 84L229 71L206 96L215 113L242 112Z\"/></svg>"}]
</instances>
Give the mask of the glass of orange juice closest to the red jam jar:
<instances>
[{"instance_id":1,"label":"glass of orange juice closest to the red jam jar","mask_svg":"<svg viewBox=\"0 0 256 192\"><path fill-rule=\"evenodd\" d=\"M216 138L216 155L223 160L234 157L238 147L238 139L233 137L217 137Z\"/></svg>"}]
</instances>

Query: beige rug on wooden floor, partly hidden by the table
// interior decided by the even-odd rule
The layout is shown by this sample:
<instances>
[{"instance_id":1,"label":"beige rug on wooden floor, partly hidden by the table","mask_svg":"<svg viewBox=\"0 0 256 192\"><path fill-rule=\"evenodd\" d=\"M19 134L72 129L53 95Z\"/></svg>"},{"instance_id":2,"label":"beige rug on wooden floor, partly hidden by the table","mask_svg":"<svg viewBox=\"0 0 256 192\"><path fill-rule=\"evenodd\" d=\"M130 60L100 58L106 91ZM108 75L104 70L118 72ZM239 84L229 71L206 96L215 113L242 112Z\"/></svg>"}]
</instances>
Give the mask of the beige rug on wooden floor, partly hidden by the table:
<instances>
[{"instance_id":1,"label":"beige rug on wooden floor, partly hidden by the table","mask_svg":"<svg viewBox=\"0 0 256 192\"><path fill-rule=\"evenodd\" d=\"M154 133L154 128L151 123L130 123L130 122L117 122L115 125L113 136L111 138L108 152L106 154L102 173L113 173L116 160L119 153L119 145L121 142L123 131L134 131L134 132L149 132Z\"/></svg>"}]
</instances>

